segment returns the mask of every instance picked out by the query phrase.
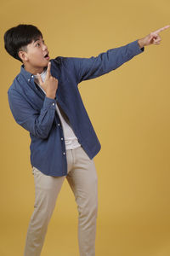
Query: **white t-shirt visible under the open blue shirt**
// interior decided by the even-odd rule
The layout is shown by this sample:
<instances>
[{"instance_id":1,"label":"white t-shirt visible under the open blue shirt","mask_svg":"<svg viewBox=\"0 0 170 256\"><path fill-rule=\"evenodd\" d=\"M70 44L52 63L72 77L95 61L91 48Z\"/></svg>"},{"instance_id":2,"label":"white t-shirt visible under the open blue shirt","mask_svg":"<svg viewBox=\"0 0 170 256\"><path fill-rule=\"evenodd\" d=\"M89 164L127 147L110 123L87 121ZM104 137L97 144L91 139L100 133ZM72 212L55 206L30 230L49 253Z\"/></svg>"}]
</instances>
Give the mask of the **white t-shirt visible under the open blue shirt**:
<instances>
[{"instance_id":1,"label":"white t-shirt visible under the open blue shirt","mask_svg":"<svg viewBox=\"0 0 170 256\"><path fill-rule=\"evenodd\" d=\"M42 81L45 80L47 74L47 69L45 69L40 75L42 77ZM38 86L42 89L42 87L39 84L39 81L37 79L37 75L34 75L35 77L35 83L38 84ZM42 91L46 94L46 92L42 89ZM65 148L67 149L73 149L81 147L81 144L78 143L78 139L74 133L74 131L71 128L71 124L69 122L69 119L67 118L64 111L59 107L59 104L55 104L56 111L59 114L59 119L61 121L61 125L63 127L64 137L65 137Z\"/></svg>"}]
</instances>

